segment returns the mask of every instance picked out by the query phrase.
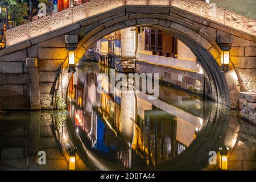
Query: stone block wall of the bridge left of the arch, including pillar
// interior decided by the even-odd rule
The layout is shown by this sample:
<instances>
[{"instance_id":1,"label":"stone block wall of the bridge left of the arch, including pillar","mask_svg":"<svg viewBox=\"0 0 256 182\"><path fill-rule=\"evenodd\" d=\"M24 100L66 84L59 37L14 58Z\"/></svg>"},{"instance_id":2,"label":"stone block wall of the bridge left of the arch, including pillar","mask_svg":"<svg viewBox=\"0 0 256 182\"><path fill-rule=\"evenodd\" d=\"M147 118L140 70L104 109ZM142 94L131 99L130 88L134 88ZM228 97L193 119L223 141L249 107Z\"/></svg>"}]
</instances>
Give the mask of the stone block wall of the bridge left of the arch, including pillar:
<instances>
[{"instance_id":1,"label":"stone block wall of the bridge left of the arch, including pillar","mask_svg":"<svg viewBox=\"0 0 256 182\"><path fill-rule=\"evenodd\" d=\"M0 56L1 109L53 109L56 81L68 55L64 41L64 35L57 36Z\"/></svg>"}]
</instances>

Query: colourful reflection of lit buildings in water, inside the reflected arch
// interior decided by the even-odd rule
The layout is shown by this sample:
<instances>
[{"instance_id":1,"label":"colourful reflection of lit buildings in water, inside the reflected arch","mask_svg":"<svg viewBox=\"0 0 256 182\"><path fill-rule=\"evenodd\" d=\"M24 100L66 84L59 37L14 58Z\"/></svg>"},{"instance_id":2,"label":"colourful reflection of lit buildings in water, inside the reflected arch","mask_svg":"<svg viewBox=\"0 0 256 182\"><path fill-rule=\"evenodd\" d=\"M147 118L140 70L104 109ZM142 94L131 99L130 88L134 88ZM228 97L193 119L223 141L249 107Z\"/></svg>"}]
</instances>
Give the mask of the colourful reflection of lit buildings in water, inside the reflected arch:
<instances>
[{"instance_id":1,"label":"colourful reflection of lit buildings in water, inside the reflected arch","mask_svg":"<svg viewBox=\"0 0 256 182\"><path fill-rule=\"evenodd\" d=\"M106 75L109 69L102 68ZM174 159L193 141L202 119L147 95L108 93L108 77L78 69L69 85L69 111L74 125L90 140L90 147L125 167L155 166ZM101 89L97 87L101 81Z\"/></svg>"}]
</instances>

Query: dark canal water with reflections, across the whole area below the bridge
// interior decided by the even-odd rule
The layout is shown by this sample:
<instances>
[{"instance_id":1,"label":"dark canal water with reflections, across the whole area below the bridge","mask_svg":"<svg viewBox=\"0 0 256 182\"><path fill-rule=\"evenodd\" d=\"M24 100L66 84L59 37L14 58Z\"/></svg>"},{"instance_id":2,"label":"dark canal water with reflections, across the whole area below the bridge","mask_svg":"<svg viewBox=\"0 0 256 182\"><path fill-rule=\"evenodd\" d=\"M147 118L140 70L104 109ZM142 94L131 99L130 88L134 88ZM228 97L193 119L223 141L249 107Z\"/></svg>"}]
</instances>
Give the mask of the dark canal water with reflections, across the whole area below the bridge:
<instances>
[{"instance_id":1,"label":"dark canal water with reflections, across the whole area below the bridge","mask_svg":"<svg viewBox=\"0 0 256 182\"><path fill-rule=\"evenodd\" d=\"M4 111L0 169L66 170L67 143L77 147L81 170L217 170L220 147L229 149L229 169L256 168L256 127L237 111L170 86L159 85L154 99L132 80L129 92L118 81L112 88L112 72L80 63L68 111ZM38 151L46 151L47 165L36 164Z\"/></svg>"}]
</instances>

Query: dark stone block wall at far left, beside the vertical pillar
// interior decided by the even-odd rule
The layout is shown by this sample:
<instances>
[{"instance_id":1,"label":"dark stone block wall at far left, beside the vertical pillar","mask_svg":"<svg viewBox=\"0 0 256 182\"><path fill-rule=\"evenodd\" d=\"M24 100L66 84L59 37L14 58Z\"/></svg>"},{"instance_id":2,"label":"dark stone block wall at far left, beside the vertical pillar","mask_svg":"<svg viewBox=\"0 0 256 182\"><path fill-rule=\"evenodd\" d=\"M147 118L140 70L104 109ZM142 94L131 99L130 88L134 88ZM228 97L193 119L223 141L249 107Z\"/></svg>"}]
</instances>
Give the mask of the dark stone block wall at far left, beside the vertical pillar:
<instances>
[{"instance_id":1,"label":"dark stone block wall at far left, beside the vertical pillar","mask_svg":"<svg viewBox=\"0 0 256 182\"><path fill-rule=\"evenodd\" d=\"M0 57L0 108L30 109L30 79L27 50Z\"/></svg>"}]
</instances>

